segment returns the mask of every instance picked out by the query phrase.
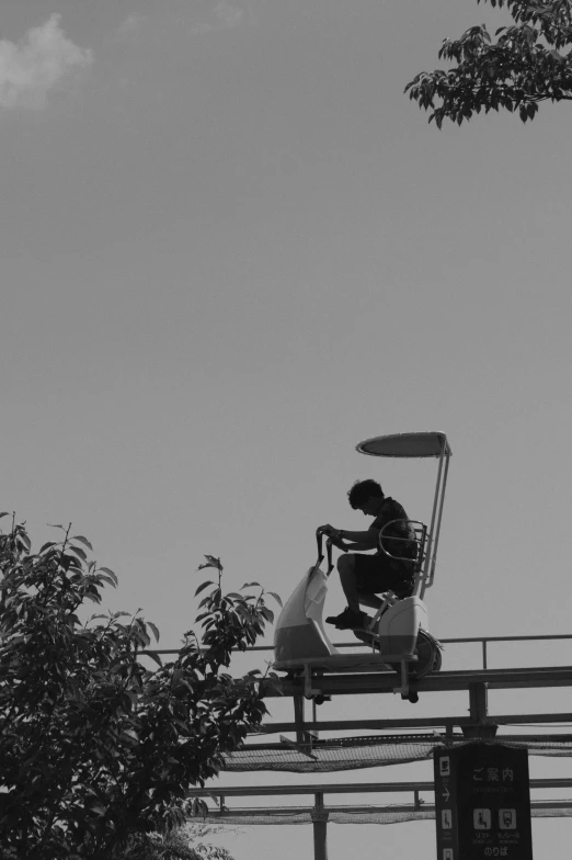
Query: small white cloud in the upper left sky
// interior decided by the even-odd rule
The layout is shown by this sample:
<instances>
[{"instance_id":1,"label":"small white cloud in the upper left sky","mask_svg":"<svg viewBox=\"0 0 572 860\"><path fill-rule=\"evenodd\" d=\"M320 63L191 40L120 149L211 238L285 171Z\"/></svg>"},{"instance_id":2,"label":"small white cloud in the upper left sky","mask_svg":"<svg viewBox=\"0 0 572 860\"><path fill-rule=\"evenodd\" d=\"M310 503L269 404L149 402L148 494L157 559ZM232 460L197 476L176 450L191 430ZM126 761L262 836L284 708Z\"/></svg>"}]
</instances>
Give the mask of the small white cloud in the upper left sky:
<instances>
[{"instance_id":1,"label":"small white cloud in the upper left sky","mask_svg":"<svg viewBox=\"0 0 572 860\"><path fill-rule=\"evenodd\" d=\"M44 108L50 90L73 69L93 63L91 50L75 45L52 15L16 43L0 41L0 108Z\"/></svg>"}]
</instances>

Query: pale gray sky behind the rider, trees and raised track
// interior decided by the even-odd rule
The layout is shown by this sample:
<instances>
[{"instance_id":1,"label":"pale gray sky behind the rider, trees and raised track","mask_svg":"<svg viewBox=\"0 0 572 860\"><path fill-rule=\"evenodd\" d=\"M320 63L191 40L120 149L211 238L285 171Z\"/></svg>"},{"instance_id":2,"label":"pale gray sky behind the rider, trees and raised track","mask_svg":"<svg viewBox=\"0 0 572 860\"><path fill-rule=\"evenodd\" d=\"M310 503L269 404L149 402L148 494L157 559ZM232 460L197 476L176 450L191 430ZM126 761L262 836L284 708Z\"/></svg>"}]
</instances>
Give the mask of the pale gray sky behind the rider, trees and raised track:
<instances>
[{"instance_id":1,"label":"pale gray sky behind the rider, trees and raised track","mask_svg":"<svg viewBox=\"0 0 572 860\"><path fill-rule=\"evenodd\" d=\"M505 18L469 0L4 0L2 507L36 545L72 520L119 575L106 604L141 607L164 647L204 553L229 589L287 597L319 523L363 522L356 478L426 519L433 463L354 451L425 429L454 451L432 631L568 632L570 109L438 133L403 95L483 21ZM330 858L428 859L433 830L333 826ZM567 822L535 834L538 860L570 844ZM237 860L310 845L309 828L232 841Z\"/></svg>"}]
</instances>

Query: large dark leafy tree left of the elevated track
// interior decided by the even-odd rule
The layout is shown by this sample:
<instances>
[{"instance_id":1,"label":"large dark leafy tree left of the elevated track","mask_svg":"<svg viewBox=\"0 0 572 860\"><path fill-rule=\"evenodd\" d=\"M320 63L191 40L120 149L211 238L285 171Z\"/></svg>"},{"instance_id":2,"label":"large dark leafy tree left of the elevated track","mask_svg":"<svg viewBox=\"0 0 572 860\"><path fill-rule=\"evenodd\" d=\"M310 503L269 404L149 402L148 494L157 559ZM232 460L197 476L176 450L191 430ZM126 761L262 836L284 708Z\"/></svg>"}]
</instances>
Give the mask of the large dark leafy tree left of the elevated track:
<instances>
[{"instance_id":1,"label":"large dark leafy tree left of the elevated track","mask_svg":"<svg viewBox=\"0 0 572 860\"><path fill-rule=\"evenodd\" d=\"M224 669L273 614L263 589L225 596L222 565L206 556L218 580L197 589L210 587L201 637L188 631L176 659L151 664L141 652L159 633L138 613L80 621L116 576L83 535L56 528L61 540L37 553L24 524L0 533L0 845L18 860L110 860L180 825L188 785L260 725L260 672Z\"/></svg>"}]
</instances>

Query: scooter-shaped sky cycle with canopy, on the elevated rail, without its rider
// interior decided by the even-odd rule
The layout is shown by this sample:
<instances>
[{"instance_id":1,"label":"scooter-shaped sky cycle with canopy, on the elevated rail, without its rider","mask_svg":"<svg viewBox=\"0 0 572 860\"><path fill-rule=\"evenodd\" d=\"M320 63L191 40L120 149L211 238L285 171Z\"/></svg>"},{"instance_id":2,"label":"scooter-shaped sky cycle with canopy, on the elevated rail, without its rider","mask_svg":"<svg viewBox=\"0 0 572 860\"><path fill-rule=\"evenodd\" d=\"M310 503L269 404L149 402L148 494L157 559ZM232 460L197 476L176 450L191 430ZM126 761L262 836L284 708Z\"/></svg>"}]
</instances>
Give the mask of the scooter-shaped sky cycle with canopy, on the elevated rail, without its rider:
<instances>
[{"instance_id":1,"label":"scooter-shaped sky cycle with canopy, on the elevated rail, without its rider","mask_svg":"<svg viewBox=\"0 0 572 860\"><path fill-rule=\"evenodd\" d=\"M445 433L415 432L379 435L359 442L356 450L362 454L380 457L436 457L437 478L430 525L417 520L408 520L415 535L414 588L410 597L398 598L388 591L381 596L382 603L368 622L367 627L354 630L367 652L342 654L332 645L323 626L322 611L328 590L328 577L332 564L332 541L327 541L328 569L323 562L323 535L318 533L318 561L302 577L285 603L275 626L274 668L286 671L290 677L304 677L304 693L317 703L323 701L319 678L328 672L387 671L399 674L399 687L403 699L417 701L416 681L441 668L441 645L428 632L428 613L424 602L427 588L435 578L437 546L445 501L445 489L450 446ZM387 523L380 532L393 524ZM399 539L397 539L399 540ZM403 539L410 540L410 539ZM392 539L393 543L396 539ZM405 556L391 555L392 558Z\"/></svg>"}]
</instances>

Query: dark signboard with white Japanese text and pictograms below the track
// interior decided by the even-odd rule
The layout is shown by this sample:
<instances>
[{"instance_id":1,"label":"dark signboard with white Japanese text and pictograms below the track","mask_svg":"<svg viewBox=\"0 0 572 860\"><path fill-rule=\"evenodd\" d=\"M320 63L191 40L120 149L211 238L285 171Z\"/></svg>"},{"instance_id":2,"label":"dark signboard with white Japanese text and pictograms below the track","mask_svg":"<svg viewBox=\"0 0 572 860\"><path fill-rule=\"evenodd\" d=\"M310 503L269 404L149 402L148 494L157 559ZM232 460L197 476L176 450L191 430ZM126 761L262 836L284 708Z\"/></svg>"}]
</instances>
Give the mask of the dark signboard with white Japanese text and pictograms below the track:
<instances>
[{"instance_id":1,"label":"dark signboard with white Japanese text and pictograms below the track","mask_svg":"<svg viewBox=\"0 0 572 860\"><path fill-rule=\"evenodd\" d=\"M533 860L528 750L436 749L437 860Z\"/></svg>"}]
</instances>

